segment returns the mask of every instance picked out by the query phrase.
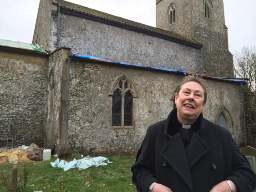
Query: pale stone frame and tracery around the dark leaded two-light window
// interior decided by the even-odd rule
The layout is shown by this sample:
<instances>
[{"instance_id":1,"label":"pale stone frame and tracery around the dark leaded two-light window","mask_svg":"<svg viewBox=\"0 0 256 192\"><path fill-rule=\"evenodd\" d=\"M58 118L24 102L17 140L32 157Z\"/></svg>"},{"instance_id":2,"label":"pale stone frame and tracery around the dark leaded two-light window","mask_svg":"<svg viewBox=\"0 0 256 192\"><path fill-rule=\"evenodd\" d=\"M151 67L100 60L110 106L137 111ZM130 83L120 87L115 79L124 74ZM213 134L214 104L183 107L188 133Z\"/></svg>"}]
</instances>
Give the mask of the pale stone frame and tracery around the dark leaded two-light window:
<instances>
[{"instance_id":1,"label":"pale stone frame and tracery around the dark leaded two-light window","mask_svg":"<svg viewBox=\"0 0 256 192\"><path fill-rule=\"evenodd\" d=\"M124 90L121 90L119 88L118 83L120 82L120 80L126 80L126 82L128 82L130 84L130 88L126 88ZM124 83L124 81L123 81ZM121 126L112 126L112 96L114 94L115 90L120 90L121 95L122 95L122 119L121 119ZM132 102L132 126L124 126L124 95L123 93L126 93L127 91L129 91L132 93L133 96L133 102ZM135 122L135 106L136 106L136 98L138 98L138 91L135 87L134 82L126 75L121 75L118 78L116 78L114 80L114 83L111 86L110 89L110 93L108 94L111 97L111 102L110 102L110 125L113 129L132 129L136 127L136 122Z\"/></svg>"}]
</instances>

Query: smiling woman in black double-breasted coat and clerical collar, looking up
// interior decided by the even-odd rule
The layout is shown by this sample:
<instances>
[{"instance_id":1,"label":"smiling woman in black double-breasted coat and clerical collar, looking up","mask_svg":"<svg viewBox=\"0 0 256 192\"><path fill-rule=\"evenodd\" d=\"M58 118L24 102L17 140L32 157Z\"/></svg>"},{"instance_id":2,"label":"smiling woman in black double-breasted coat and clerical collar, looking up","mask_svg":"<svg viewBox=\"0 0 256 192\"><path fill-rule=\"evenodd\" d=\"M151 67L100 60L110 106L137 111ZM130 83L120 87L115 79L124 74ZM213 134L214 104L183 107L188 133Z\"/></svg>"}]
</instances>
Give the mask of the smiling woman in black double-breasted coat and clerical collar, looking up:
<instances>
[{"instance_id":1,"label":"smiling woman in black double-breasted coat and clerical collar, looking up","mask_svg":"<svg viewBox=\"0 0 256 192\"><path fill-rule=\"evenodd\" d=\"M256 175L230 132L203 118L205 81L186 76L176 108L149 126L132 166L139 192L252 192Z\"/></svg>"}]
</instances>

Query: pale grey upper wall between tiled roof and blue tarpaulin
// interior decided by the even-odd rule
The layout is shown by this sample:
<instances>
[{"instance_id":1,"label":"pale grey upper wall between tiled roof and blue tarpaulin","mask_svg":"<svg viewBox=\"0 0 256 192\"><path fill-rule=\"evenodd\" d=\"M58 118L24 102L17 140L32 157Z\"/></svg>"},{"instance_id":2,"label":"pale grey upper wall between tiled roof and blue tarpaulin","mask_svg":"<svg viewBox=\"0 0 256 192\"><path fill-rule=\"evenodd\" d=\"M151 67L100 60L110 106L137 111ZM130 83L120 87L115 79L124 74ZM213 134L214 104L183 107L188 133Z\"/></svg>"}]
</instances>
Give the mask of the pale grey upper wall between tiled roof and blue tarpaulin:
<instances>
[{"instance_id":1,"label":"pale grey upper wall between tiled roof and blue tarpaulin","mask_svg":"<svg viewBox=\"0 0 256 192\"><path fill-rule=\"evenodd\" d=\"M57 44L57 22L52 16L52 50ZM60 15L60 46L80 55L201 73L200 49L66 14Z\"/></svg>"}]
</instances>

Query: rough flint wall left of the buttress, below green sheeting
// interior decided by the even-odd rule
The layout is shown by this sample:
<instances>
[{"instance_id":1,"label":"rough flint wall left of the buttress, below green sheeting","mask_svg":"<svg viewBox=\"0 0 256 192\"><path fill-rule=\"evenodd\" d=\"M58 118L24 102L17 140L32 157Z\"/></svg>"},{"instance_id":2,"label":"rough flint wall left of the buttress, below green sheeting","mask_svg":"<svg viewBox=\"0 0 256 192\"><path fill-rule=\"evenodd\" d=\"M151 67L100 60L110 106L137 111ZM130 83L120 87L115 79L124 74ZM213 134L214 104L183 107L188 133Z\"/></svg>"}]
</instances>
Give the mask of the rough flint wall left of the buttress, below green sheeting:
<instances>
[{"instance_id":1,"label":"rough flint wall left of the buttress, below green sheeting","mask_svg":"<svg viewBox=\"0 0 256 192\"><path fill-rule=\"evenodd\" d=\"M44 144L47 62L37 54L0 52L0 138L16 133L16 147Z\"/></svg>"}]
</instances>

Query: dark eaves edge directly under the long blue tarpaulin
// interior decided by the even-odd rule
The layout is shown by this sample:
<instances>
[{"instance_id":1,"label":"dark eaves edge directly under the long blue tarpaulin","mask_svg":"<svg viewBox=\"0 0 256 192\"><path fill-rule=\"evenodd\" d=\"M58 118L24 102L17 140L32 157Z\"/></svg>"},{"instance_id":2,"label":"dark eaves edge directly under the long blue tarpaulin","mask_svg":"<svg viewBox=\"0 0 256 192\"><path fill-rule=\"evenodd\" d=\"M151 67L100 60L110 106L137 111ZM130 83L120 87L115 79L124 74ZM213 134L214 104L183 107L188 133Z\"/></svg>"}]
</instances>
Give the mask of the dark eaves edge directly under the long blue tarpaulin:
<instances>
[{"instance_id":1,"label":"dark eaves edge directly under the long blue tarpaulin","mask_svg":"<svg viewBox=\"0 0 256 192\"><path fill-rule=\"evenodd\" d=\"M150 70L150 71L157 71L157 72L163 72L163 73L171 73L171 74L177 74L177 75L182 75L182 76L186 76L186 75L190 75L189 73L184 74L183 72L174 72L174 71L170 71L170 70L161 70L161 69L157 69L157 68L151 68L151 67L145 67L145 66L136 66L136 65L122 65L122 64L118 64L117 62L110 62L110 61L104 61L104 60L94 60L94 59L88 59L88 58L80 58L77 56L70 56L70 58L72 60L77 60L77 61L84 61L84 62L90 62L90 63L98 63L98 64L103 64L103 65L111 65L111 66L118 66L118 67L127 67L127 68L139 68L142 70ZM239 82L239 81L232 81L232 80L228 80L228 79L223 79L223 78L214 78L214 77L210 77L210 76L203 76L200 75L205 79L209 79L209 80L217 80L217 81L224 81L224 82L229 82L229 83L239 83L239 84L246 84L246 82Z\"/></svg>"}]
</instances>

